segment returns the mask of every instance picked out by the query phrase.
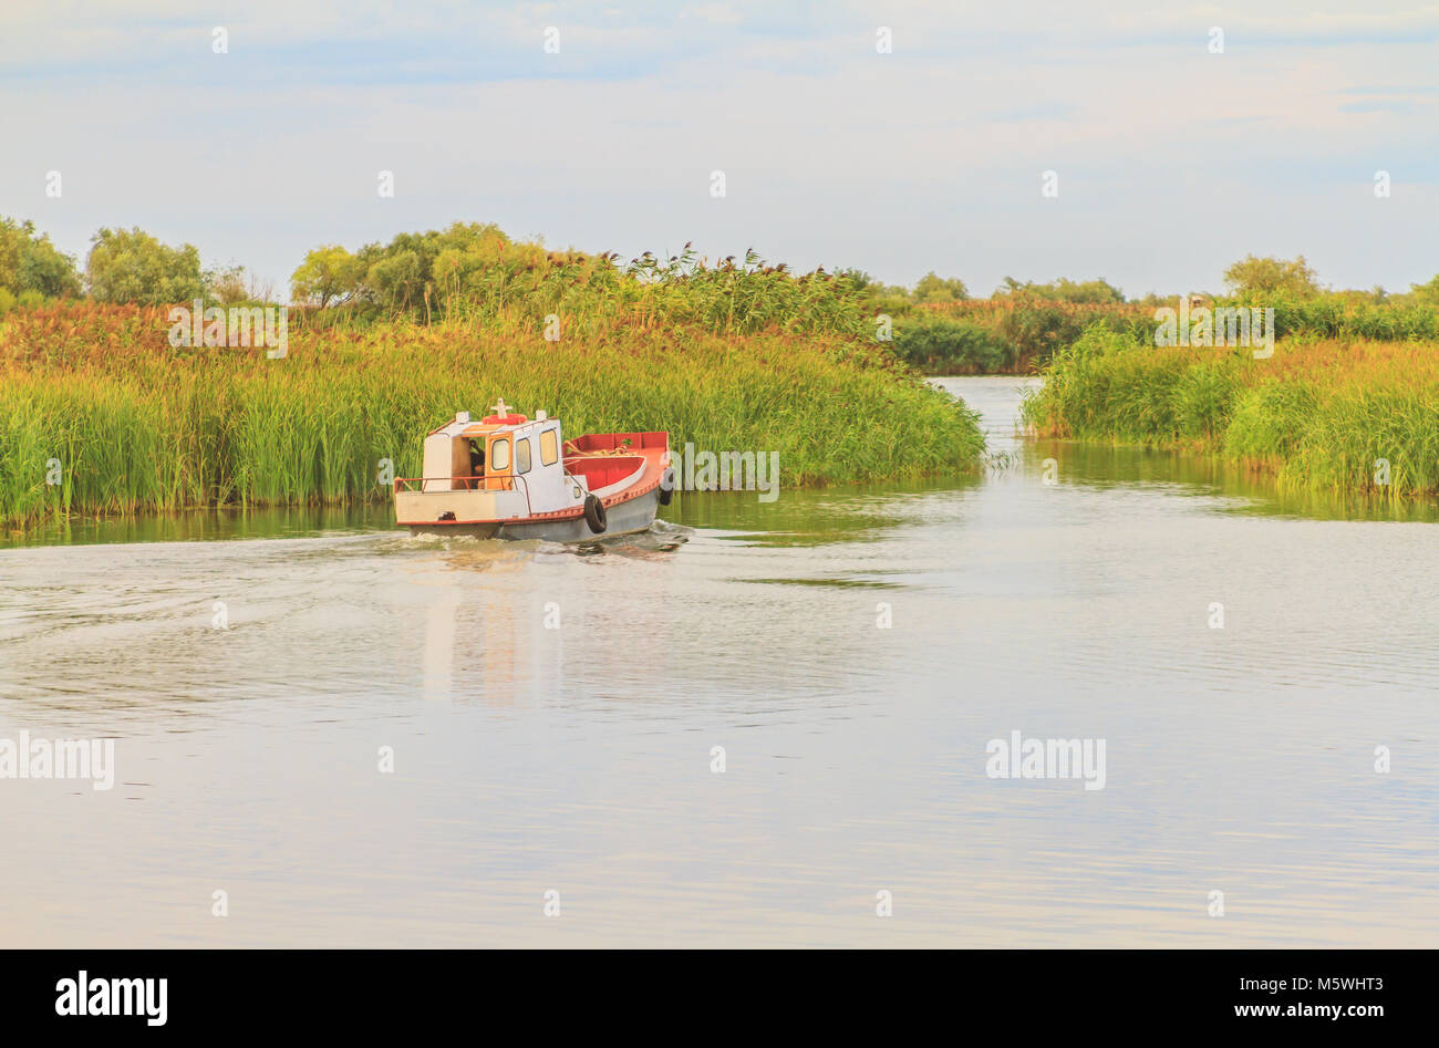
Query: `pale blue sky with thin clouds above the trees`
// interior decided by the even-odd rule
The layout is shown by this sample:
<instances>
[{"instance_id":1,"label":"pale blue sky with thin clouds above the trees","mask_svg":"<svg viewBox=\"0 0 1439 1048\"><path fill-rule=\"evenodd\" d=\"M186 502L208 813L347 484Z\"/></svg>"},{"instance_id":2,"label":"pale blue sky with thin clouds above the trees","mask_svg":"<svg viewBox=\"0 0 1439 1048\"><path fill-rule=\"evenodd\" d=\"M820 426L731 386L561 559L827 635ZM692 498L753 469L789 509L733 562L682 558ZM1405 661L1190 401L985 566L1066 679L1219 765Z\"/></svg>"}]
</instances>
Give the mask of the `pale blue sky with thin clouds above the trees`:
<instances>
[{"instance_id":1,"label":"pale blue sky with thin clouds above the trees","mask_svg":"<svg viewBox=\"0 0 1439 1048\"><path fill-rule=\"evenodd\" d=\"M1403 291L1439 272L1439 3L4 0L0 216L282 298L311 248L455 220L974 294L1248 253Z\"/></svg>"}]
</instances>

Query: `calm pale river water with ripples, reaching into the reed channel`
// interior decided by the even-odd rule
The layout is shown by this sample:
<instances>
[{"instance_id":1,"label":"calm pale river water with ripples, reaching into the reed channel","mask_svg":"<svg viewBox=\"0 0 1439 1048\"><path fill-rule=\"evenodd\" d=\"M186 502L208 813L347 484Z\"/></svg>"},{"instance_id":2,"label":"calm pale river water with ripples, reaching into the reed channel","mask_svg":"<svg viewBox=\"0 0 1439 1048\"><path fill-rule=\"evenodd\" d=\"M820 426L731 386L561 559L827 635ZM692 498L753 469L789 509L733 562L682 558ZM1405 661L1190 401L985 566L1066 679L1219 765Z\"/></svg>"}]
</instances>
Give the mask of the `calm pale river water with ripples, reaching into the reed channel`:
<instances>
[{"instance_id":1,"label":"calm pale river water with ripples, reaching into the reed channel","mask_svg":"<svg viewBox=\"0 0 1439 1048\"><path fill-rule=\"evenodd\" d=\"M944 384L981 476L599 553L383 511L0 548L0 738L118 764L0 779L0 946L1439 944L1435 507ZM1016 730L1105 740L1105 787L990 779Z\"/></svg>"}]
</instances>

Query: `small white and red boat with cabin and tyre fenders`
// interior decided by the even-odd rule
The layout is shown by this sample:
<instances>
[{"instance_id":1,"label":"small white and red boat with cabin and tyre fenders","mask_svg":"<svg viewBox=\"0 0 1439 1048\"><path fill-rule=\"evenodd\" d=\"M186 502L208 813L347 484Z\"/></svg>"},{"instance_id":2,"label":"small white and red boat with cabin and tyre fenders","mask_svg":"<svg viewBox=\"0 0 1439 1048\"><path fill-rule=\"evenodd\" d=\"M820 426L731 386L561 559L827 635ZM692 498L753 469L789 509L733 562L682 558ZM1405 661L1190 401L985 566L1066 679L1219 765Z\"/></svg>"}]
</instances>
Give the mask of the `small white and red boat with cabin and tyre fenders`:
<instances>
[{"instance_id":1,"label":"small white and red boat with cabin and tyre fenders","mask_svg":"<svg viewBox=\"0 0 1439 1048\"><path fill-rule=\"evenodd\" d=\"M423 476L394 481L412 534L594 541L645 531L673 495L669 433L589 433L530 419L499 399L479 422L458 412L425 438Z\"/></svg>"}]
</instances>

